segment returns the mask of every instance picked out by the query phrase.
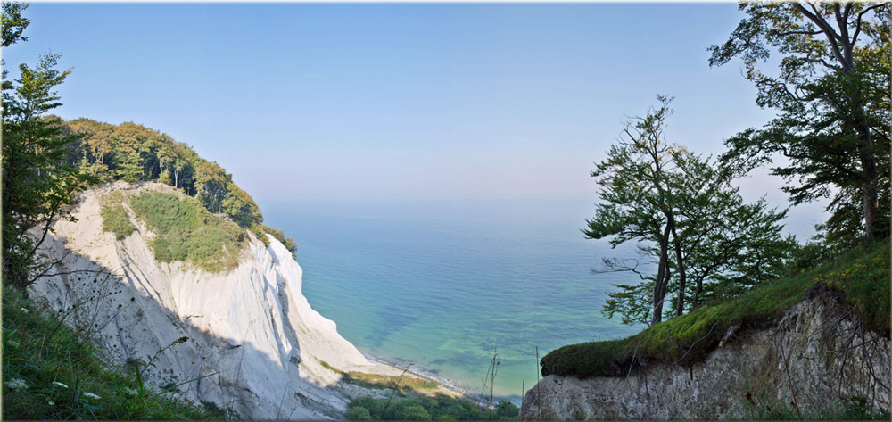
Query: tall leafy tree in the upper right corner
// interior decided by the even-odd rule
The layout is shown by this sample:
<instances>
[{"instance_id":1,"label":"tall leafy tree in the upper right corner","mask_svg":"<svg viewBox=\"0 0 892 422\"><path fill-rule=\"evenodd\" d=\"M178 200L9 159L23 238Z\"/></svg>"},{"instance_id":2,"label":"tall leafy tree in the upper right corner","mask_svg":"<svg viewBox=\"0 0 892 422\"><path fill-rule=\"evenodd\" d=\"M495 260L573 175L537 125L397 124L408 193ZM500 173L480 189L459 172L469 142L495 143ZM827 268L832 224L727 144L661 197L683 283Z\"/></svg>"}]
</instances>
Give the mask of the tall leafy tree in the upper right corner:
<instances>
[{"instance_id":1,"label":"tall leafy tree in the upper right corner","mask_svg":"<svg viewBox=\"0 0 892 422\"><path fill-rule=\"evenodd\" d=\"M776 164L773 174L801 183L784 188L793 203L832 196L833 222L854 228L852 220L860 220L863 236L888 236L888 201L881 206L879 196L888 192L889 4L739 8L747 18L727 42L709 48L709 64L742 58L758 89L756 103L780 114L761 130L728 139L724 161L751 169L780 154L789 163ZM769 76L758 63L773 52L782 59L779 73ZM856 214L853 199L860 203Z\"/></svg>"}]
</instances>

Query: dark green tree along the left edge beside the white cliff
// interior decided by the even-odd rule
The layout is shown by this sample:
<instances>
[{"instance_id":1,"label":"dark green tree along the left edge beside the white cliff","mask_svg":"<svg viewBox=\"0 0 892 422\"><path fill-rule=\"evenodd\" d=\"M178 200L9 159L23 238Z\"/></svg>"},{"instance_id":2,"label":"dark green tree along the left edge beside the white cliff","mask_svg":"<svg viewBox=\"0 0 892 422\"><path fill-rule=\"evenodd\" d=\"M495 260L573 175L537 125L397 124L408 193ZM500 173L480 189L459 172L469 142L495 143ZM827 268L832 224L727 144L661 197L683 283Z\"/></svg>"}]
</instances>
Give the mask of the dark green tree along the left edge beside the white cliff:
<instances>
[{"instance_id":1,"label":"dark green tree along the left edge beside the white cliff","mask_svg":"<svg viewBox=\"0 0 892 422\"><path fill-rule=\"evenodd\" d=\"M3 6L4 47L25 39L21 32L28 20L21 18L22 10L21 5ZM62 120L46 115L61 105L55 88L71 72L56 70L58 60L58 54L44 54L33 69L22 64L14 82L4 71L3 276L19 287L50 268L37 250L54 222L69 217L66 207L75 194L93 181L69 163L70 145L78 137L66 133Z\"/></svg>"}]
</instances>

